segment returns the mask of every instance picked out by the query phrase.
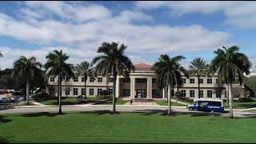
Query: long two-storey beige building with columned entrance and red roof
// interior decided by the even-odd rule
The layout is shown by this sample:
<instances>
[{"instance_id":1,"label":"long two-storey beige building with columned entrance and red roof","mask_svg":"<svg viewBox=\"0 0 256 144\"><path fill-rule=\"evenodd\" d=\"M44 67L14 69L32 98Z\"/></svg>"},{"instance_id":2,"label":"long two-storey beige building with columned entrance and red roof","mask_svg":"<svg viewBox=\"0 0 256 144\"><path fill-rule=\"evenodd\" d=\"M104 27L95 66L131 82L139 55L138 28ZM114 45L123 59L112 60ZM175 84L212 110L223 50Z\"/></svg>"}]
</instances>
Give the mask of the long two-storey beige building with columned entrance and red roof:
<instances>
[{"instance_id":1,"label":"long two-storey beige building with columned entrance and red roof","mask_svg":"<svg viewBox=\"0 0 256 144\"><path fill-rule=\"evenodd\" d=\"M130 73L130 78L118 76L116 85L117 98L167 98L167 90L157 90L157 79L152 66L145 63L138 63L134 72ZM226 99L226 86L218 85L217 75L210 78L202 77L200 82L200 98L222 98ZM57 95L58 78L49 78L47 91L52 95ZM183 77L184 85L179 88L184 98L198 98L198 78L192 76L190 78ZM98 76L98 78L87 78L86 90L84 88L84 78L82 76L74 77L62 82L62 96L95 96L101 95L102 90L107 90L109 94L113 94L113 77ZM234 84L234 98L244 96L244 86ZM171 91L174 95L177 87Z\"/></svg>"}]
</instances>

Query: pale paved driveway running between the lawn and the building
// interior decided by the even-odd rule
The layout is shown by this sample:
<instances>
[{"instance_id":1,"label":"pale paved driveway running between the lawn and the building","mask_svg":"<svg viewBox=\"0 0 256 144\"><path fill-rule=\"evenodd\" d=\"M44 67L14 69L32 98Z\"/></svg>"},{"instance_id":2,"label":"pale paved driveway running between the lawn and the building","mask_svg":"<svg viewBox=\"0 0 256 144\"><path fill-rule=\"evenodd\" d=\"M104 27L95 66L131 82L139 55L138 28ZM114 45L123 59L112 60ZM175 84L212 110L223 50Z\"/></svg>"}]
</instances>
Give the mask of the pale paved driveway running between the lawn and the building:
<instances>
[{"instance_id":1,"label":"pale paved driveway running between the lawn and the building","mask_svg":"<svg viewBox=\"0 0 256 144\"><path fill-rule=\"evenodd\" d=\"M112 110L112 106L109 105L76 105L76 106L62 106L63 112L82 112L82 111L98 111L98 110ZM126 112L145 112L149 114L155 113L166 113L166 106L116 106L117 111L126 111ZM184 107L173 107L174 113L190 113L190 114L202 114L202 115L224 115L228 116L228 113L206 113L198 111L190 111ZM58 112L58 106L30 106L27 108L14 108L8 110L0 110L0 114L14 114L14 113L38 113L38 112ZM234 117L251 117L256 118L256 113L243 112L243 111L234 111Z\"/></svg>"}]
</instances>

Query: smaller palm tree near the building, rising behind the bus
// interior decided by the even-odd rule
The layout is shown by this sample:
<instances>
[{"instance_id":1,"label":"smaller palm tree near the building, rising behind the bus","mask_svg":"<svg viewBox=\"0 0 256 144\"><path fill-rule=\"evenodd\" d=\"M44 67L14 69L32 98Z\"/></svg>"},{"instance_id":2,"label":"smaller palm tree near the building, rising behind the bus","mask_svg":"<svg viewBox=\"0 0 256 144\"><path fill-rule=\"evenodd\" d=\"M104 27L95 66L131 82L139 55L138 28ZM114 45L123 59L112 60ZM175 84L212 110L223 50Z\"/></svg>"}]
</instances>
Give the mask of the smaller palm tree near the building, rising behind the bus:
<instances>
[{"instance_id":1,"label":"smaller palm tree near the building, rising behind the bus","mask_svg":"<svg viewBox=\"0 0 256 144\"><path fill-rule=\"evenodd\" d=\"M194 58L189 66L189 74L198 77L198 98L200 98L200 82L201 77L209 76L209 65L202 58Z\"/></svg>"}]
</instances>

